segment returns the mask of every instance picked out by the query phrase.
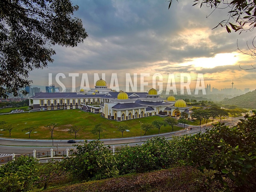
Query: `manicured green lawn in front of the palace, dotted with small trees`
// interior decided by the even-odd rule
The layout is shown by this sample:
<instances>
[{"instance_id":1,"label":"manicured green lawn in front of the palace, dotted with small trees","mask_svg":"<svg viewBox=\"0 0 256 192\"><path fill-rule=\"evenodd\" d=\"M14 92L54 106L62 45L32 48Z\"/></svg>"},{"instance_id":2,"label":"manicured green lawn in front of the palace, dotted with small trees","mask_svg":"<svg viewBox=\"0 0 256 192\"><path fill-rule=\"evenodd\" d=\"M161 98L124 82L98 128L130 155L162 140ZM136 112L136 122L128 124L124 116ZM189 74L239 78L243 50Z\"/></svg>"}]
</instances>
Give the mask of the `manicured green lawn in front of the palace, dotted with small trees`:
<instances>
[{"instance_id":1,"label":"manicured green lawn in front of the palace, dotted with small trees","mask_svg":"<svg viewBox=\"0 0 256 192\"><path fill-rule=\"evenodd\" d=\"M98 135L93 135L91 130L98 123L102 123L107 130L100 133L100 139L122 137L122 133L116 131L117 126L120 124L127 124L130 126L130 132L124 132L124 137L133 137L140 135L139 121L142 123L151 123L156 119L163 120L164 118L160 116L150 116L117 122L116 120L108 120L100 116L100 114L84 112L79 109L0 115L0 121L6 121L8 124L12 124L15 127L11 131L11 137L22 139L27 139L28 134L25 134L25 132L22 132L21 130L31 125L37 125L39 128L35 131L36 133L31 132L30 139L51 139L51 132L44 126L53 122L58 124L53 131L53 139L74 139L75 134L70 135L68 133L68 129L72 125L83 126L83 128L76 133L76 139L97 139ZM174 131L180 129L183 128L178 126L174 127ZM162 126L160 128L160 133L171 131L171 126ZM156 133L158 133L158 129L149 131L146 135ZM9 137L8 131L0 131L0 134L3 134L1 137ZM142 135L144 135L143 130Z\"/></svg>"}]
</instances>

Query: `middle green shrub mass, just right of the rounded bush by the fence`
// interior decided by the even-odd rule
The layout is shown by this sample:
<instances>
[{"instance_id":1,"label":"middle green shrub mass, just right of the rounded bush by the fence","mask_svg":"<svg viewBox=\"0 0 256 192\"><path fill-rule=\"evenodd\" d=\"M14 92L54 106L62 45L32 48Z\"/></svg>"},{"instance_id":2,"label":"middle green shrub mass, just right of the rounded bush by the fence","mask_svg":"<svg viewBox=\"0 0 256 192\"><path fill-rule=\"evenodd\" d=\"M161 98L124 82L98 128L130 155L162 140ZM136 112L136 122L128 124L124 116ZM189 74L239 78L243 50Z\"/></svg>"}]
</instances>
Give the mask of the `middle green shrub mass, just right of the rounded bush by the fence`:
<instances>
[{"instance_id":1,"label":"middle green shrub mass, just right of the rounded bush by the fence","mask_svg":"<svg viewBox=\"0 0 256 192\"><path fill-rule=\"evenodd\" d=\"M169 141L159 137L154 137L142 146L121 148L116 152L120 174L166 168L176 162L173 149Z\"/></svg>"}]
</instances>

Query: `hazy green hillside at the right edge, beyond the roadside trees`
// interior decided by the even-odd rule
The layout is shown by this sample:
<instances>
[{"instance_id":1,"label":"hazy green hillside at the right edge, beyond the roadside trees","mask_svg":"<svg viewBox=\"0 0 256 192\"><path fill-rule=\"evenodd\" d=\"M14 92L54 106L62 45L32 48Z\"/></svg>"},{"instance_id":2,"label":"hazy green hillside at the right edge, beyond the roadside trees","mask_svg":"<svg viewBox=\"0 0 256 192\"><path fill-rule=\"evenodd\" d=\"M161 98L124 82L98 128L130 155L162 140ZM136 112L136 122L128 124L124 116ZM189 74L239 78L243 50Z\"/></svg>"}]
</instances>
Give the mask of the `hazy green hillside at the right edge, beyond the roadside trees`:
<instances>
[{"instance_id":1,"label":"hazy green hillside at the right edge, beyond the roadside trees","mask_svg":"<svg viewBox=\"0 0 256 192\"><path fill-rule=\"evenodd\" d=\"M245 93L244 95L239 95L233 97L232 99L225 98L221 101L221 104L237 105L242 108L256 108L256 89L252 92Z\"/></svg>"}]
</instances>

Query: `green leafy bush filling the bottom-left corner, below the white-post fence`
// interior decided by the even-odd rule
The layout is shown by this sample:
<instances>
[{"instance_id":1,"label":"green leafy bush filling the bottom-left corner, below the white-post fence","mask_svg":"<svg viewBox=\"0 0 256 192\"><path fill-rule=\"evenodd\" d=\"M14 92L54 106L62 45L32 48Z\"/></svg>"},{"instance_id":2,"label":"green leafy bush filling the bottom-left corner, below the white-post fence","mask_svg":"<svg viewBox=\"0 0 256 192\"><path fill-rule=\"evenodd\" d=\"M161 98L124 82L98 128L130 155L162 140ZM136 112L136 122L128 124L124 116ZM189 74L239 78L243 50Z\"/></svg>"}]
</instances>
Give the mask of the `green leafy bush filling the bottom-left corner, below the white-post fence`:
<instances>
[{"instance_id":1,"label":"green leafy bush filling the bottom-left corner, below the white-post fence","mask_svg":"<svg viewBox=\"0 0 256 192\"><path fill-rule=\"evenodd\" d=\"M0 166L0 189L3 192L28 191L38 180L39 163L33 157L21 156Z\"/></svg>"}]
</instances>

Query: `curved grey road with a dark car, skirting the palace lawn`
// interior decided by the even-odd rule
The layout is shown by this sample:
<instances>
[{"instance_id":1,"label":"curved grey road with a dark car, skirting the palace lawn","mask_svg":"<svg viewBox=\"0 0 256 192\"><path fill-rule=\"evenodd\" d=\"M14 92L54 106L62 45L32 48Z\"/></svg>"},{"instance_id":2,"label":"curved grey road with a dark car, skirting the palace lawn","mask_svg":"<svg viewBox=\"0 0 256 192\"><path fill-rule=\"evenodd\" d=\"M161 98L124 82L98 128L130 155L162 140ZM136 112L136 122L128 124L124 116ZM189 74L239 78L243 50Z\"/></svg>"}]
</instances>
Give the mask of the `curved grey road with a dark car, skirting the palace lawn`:
<instances>
[{"instance_id":1,"label":"curved grey road with a dark car, skirting the palace lawn","mask_svg":"<svg viewBox=\"0 0 256 192\"><path fill-rule=\"evenodd\" d=\"M228 120L222 120L221 122L226 122L226 125L236 125L242 117L236 117L233 118L233 121L231 122L231 119ZM187 126L189 127L189 126ZM211 127L209 125L208 127ZM201 131L205 132L205 126L201 127ZM101 141L104 142L104 145L111 145L111 146L120 146L120 145L126 145L129 144L130 146L141 144L148 139L151 139L155 136L164 136L165 138L171 138L172 136L181 136L185 134L193 134L196 132L200 132L200 127L194 127L192 130L185 129L181 131L171 132L171 133L163 133L163 134L157 134L157 135L147 135L140 137L132 137L132 138L117 138L117 139L102 139ZM141 142L140 142L141 139ZM84 140L76 140L76 141L84 141ZM88 140L91 141L91 140ZM49 151L51 148L53 150L57 150L57 144L58 150L66 150L67 148L71 149L74 148L72 145L73 143L67 143L67 140L53 140L53 147L52 147L52 140L21 140L21 139L7 139L7 138L0 138L0 154L24 154L24 153L32 153L34 149L36 151ZM77 143L76 143L77 144Z\"/></svg>"}]
</instances>

